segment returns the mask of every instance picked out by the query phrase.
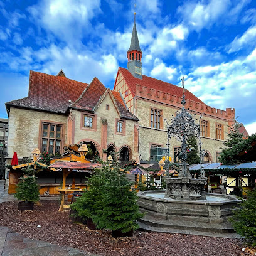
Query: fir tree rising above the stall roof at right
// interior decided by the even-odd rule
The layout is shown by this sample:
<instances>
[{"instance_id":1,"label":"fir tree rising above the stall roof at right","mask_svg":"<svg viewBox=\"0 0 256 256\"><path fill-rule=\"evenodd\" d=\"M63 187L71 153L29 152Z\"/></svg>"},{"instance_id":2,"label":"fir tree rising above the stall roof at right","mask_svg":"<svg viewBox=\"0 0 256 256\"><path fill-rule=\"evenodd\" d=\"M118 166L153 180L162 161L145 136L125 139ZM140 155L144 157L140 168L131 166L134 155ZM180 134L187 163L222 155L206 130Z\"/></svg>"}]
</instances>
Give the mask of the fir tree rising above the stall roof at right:
<instances>
[{"instance_id":1,"label":"fir tree rising above the stall roof at right","mask_svg":"<svg viewBox=\"0 0 256 256\"><path fill-rule=\"evenodd\" d=\"M238 164L242 162L236 157L245 147L245 140L243 139L243 134L239 132L239 125L235 122L235 124L229 127L228 141L223 142L225 148L220 148L219 161L223 164Z\"/></svg>"}]
</instances>

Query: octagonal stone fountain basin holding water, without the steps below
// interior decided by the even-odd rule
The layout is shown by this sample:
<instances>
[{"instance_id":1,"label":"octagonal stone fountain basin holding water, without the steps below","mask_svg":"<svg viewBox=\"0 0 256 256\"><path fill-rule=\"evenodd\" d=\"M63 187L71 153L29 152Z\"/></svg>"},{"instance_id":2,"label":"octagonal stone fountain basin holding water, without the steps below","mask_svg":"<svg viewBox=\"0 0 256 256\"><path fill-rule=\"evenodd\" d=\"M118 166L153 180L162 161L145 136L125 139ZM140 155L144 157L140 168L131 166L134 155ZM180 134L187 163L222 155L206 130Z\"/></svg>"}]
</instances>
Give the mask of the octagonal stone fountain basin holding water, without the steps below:
<instances>
[{"instance_id":1,"label":"octagonal stone fountain basin holding water, without the steps below","mask_svg":"<svg viewBox=\"0 0 256 256\"><path fill-rule=\"evenodd\" d=\"M205 200L166 198L165 191L140 191L137 203L142 212L157 218L171 220L223 223L240 207L232 195L206 193Z\"/></svg>"}]
</instances>

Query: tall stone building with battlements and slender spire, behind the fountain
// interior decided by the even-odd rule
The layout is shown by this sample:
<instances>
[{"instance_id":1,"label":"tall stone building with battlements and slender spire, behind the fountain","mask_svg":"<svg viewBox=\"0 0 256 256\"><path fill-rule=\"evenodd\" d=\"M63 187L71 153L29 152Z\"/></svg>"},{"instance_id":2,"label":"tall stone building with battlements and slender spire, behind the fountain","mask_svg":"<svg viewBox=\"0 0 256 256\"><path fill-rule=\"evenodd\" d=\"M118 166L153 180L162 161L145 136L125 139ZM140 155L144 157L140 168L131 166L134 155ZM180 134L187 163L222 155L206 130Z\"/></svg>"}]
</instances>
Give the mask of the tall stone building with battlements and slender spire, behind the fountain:
<instances>
[{"instance_id":1,"label":"tall stone building with battlements and slender spire, behind the fountain","mask_svg":"<svg viewBox=\"0 0 256 256\"><path fill-rule=\"evenodd\" d=\"M142 75L142 51L139 46L136 23L132 30L131 45L127 51L128 69L119 67L114 91L120 92L130 112L139 121L139 154L145 161L158 161L165 152L167 134L164 119L171 122L181 108L183 88ZM207 86L207 85L206 85ZM186 106L201 118L201 141L206 163L217 162L219 147L223 147L228 125L235 119L235 109L215 109L206 105L193 93L185 90ZM198 121L199 122L199 121ZM176 161L181 142L171 139L170 155Z\"/></svg>"}]
</instances>

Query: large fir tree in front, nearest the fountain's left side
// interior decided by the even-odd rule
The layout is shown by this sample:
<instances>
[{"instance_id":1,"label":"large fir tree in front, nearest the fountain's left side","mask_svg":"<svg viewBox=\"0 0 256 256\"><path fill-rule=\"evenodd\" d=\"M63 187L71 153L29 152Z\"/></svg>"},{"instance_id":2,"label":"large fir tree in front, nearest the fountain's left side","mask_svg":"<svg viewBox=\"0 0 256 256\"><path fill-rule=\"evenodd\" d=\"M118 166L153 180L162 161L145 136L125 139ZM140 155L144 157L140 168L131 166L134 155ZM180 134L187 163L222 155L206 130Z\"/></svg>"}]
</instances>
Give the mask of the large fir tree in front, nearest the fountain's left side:
<instances>
[{"instance_id":1,"label":"large fir tree in front, nearest the fountain's left side","mask_svg":"<svg viewBox=\"0 0 256 256\"><path fill-rule=\"evenodd\" d=\"M131 191L131 184L125 171L115 167L102 187L102 209L97 210L92 220L98 228L120 230L122 233L136 230L136 220L142 218L137 205L136 191Z\"/></svg>"}]
</instances>

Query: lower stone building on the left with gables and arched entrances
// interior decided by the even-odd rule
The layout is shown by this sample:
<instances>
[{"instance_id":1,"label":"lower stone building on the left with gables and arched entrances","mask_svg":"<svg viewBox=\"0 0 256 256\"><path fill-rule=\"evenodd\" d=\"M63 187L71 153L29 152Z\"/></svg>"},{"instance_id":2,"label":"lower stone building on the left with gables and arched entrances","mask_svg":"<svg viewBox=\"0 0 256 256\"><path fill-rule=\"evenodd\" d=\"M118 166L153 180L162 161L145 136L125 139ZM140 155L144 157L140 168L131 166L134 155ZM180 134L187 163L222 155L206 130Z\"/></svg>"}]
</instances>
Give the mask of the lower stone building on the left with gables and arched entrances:
<instances>
[{"instance_id":1,"label":"lower stone building on the left with gables and arched entrances","mask_svg":"<svg viewBox=\"0 0 256 256\"><path fill-rule=\"evenodd\" d=\"M28 97L7 102L6 109L9 162L14 152L18 159L31 157L36 147L61 154L64 144L84 143L103 159L106 150L120 151L120 161L138 159L139 119L119 92L97 78L87 84L68 79L62 70L56 76L31 71Z\"/></svg>"}]
</instances>

